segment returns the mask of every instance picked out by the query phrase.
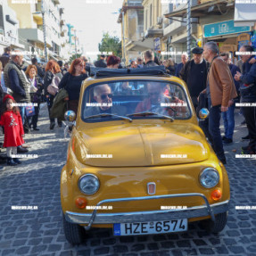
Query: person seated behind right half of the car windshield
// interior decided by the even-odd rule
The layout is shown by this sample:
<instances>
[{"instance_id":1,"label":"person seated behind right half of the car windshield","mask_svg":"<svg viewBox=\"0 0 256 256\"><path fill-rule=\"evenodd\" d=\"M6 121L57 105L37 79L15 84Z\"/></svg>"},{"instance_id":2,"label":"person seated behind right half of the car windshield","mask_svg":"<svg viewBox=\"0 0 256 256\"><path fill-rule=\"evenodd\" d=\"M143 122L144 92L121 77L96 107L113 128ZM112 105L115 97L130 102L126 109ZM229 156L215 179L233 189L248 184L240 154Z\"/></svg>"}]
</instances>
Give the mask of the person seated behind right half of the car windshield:
<instances>
[{"instance_id":1,"label":"person seated behind right half of the car windshield","mask_svg":"<svg viewBox=\"0 0 256 256\"><path fill-rule=\"evenodd\" d=\"M165 106L162 103L179 103L183 104L184 101L175 96L165 95L161 88L161 83L154 82L147 84L148 97L136 106L136 112L153 111L163 115L172 116L174 112L186 112L184 106Z\"/></svg>"}]
</instances>

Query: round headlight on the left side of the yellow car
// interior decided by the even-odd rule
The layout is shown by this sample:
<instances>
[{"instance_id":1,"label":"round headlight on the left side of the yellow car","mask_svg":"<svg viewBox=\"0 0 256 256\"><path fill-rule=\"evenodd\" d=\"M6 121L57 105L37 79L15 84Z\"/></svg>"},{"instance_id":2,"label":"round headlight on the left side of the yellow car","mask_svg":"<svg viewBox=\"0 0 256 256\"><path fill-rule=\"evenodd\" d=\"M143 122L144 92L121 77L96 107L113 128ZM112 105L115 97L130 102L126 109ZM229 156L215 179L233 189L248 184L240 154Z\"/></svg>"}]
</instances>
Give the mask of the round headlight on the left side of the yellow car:
<instances>
[{"instance_id":1,"label":"round headlight on the left side of the yellow car","mask_svg":"<svg viewBox=\"0 0 256 256\"><path fill-rule=\"evenodd\" d=\"M86 174L79 178L78 187L84 194L95 194L100 187L100 181L94 174Z\"/></svg>"}]
</instances>

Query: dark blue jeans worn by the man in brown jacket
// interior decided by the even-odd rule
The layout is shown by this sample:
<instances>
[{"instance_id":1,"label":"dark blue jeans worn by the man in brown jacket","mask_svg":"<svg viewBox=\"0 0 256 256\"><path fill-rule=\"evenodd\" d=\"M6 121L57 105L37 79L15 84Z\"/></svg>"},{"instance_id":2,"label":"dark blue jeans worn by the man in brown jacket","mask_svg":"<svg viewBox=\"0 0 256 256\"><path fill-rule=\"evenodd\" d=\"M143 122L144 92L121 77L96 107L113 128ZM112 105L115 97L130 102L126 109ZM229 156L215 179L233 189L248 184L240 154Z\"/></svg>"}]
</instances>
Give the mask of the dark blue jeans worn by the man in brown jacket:
<instances>
[{"instance_id":1,"label":"dark blue jeans worn by the man in brown jacket","mask_svg":"<svg viewBox=\"0 0 256 256\"><path fill-rule=\"evenodd\" d=\"M211 104L209 104L211 106ZM222 138L220 135L220 117L221 117L220 105L210 108L209 114L209 132L212 139L212 148L217 154L220 161L226 160L225 153L222 144Z\"/></svg>"}]
</instances>

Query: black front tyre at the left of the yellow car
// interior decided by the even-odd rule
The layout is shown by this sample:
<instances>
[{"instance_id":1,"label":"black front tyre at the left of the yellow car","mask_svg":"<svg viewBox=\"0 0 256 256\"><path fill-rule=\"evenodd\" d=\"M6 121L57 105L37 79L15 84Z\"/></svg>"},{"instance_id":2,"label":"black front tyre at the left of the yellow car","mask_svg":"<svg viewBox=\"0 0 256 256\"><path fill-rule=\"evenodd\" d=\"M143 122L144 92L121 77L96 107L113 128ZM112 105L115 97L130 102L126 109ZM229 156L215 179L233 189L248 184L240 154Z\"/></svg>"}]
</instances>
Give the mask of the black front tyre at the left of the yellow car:
<instances>
[{"instance_id":1,"label":"black front tyre at the left of the yellow car","mask_svg":"<svg viewBox=\"0 0 256 256\"><path fill-rule=\"evenodd\" d=\"M66 239L70 244L81 244L84 240L85 229L78 224L72 224L65 219L64 214L62 215L63 228Z\"/></svg>"}]
</instances>

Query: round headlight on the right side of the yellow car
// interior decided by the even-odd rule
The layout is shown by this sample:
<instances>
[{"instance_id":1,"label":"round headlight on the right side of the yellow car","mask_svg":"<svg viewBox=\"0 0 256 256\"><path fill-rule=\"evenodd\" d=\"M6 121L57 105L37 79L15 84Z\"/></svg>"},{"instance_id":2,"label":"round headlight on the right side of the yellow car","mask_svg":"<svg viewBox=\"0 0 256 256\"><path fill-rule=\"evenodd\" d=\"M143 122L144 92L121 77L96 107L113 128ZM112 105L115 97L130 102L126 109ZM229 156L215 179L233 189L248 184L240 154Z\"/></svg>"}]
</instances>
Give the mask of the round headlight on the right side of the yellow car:
<instances>
[{"instance_id":1,"label":"round headlight on the right side of the yellow car","mask_svg":"<svg viewBox=\"0 0 256 256\"><path fill-rule=\"evenodd\" d=\"M203 169L200 173L199 180L202 186L211 188L219 183L219 172L213 168Z\"/></svg>"}]
</instances>

